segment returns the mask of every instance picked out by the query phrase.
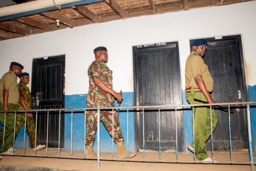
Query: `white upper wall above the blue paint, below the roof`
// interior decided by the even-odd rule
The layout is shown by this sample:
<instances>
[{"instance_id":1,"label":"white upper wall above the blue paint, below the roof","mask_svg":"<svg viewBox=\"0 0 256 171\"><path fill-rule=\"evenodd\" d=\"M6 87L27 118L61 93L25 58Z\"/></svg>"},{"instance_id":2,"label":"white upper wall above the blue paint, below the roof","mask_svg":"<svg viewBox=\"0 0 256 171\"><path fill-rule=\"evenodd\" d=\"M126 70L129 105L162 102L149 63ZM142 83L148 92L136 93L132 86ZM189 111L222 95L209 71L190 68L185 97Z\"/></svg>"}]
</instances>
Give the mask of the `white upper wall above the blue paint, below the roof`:
<instances>
[{"instance_id":1,"label":"white upper wall above the blue paint, below the roof","mask_svg":"<svg viewBox=\"0 0 256 171\"><path fill-rule=\"evenodd\" d=\"M87 68L94 60L93 49L108 48L108 66L113 71L116 91L133 91L132 46L179 41L184 89L184 68L190 54L189 39L241 34L247 83L256 84L256 1L207 7L176 13L148 15L97 23L28 37L0 41L0 75L12 61L20 62L31 74L31 60L66 55L66 95L88 92Z\"/></svg>"}]
</instances>

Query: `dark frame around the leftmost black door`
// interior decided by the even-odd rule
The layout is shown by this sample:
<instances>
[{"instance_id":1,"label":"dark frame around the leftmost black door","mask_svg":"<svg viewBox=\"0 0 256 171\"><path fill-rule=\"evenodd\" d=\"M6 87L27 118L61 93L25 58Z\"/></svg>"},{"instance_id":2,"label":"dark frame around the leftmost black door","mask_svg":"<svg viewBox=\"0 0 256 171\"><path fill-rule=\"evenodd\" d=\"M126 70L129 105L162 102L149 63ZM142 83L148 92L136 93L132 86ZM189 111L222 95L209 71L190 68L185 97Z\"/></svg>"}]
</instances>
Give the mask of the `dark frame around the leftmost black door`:
<instances>
[{"instance_id":1,"label":"dark frame around the leftmost black door","mask_svg":"<svg viewBox=\"0 0 256 171\"><path fill-rule=\"evenodd\" d=\"M62 55L54 55L54 56L45 56L42 58L33 58L31 60L31 96L33 96L33 93L35 93L37 90L35 89L37 87L37 82L33 80L33 78L36 78L37 73L34 72L36 71L37 65L33 65L34 61L40 61L40 60L45 60L45 59L60 59L63 58L64 59L64 75L65 75L65 68L66 68L66 55L62 54ZM36 79L35 79L36 80ZM65 76L64 76L64 85L63 85L63 90L65 90ZM65 108L65 91L64 93L62 93L62 103L61 103L62 108ZM36 120L36 118L34 118ZM61 139L60 139L60 143L63 144L63 148L65 147L65 115L61 115L61 120L64 120L64 122L61 122Z\"/></svg>"}]
</instances>

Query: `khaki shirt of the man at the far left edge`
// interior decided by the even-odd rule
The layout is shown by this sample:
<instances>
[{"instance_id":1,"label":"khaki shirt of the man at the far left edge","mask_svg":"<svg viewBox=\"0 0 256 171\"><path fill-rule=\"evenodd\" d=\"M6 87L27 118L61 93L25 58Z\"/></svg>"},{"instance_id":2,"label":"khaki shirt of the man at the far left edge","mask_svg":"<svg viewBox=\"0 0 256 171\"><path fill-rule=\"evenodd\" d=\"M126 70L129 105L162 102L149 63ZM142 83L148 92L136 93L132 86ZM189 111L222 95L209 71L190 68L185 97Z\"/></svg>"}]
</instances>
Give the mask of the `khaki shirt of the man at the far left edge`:
<instances>
[{"instance_id":1,"label":"khaki shirt of the man at the far left edge","mask_svg":"<svg viewBox=\"0 0 256 171\"><path fill-rule=\"evenodd\" d=\"M3 103L3 89L9 90L8 104L17 105L19 102L19 91L17 76L13 71L6 72L0 79L0 103Z\"/></svg>"}]
</instances>

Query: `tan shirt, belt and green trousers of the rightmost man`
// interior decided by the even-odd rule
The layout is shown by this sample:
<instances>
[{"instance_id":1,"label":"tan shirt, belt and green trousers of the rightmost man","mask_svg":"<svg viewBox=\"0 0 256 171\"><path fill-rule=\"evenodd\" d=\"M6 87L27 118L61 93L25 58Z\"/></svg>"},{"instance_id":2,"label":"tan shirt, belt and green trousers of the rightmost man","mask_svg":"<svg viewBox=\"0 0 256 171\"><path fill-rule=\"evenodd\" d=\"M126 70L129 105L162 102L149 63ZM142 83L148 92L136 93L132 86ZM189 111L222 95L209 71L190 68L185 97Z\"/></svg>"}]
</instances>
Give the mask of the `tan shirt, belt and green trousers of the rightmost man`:
<instances>
[{"instance_id":1,"label":"tan shirt, belt and green trousers of the rightmost man","mask_svg":"<svg viewBox=\"0 0 256 171\"><path fill-rule=\"evenodd\" d=\"M194 101L194 99L206 101L206 96L199 90L195 82L195 77L201 75L206 85L208 92L213 90L213 80L208 70L208 66L203 62L201 56L192 51L187 58L185 76L186 76L186 89L187 100L190 104L202 104ZM191 88L191 90L190 90ZM195 88L195 91L194 91ZM212 115L212 131L216 128L218 123L218 117L216 116L214 109L211 109ZM210 120L210 108L207 107L195 107L194 108L194 132L195 132L195 154L196 159L202 161L208 158L205 145L208 138L211 136L211 120ZM193 120L192 120L193 124ZM193 148L194 143L191 142L190 146Z\"/></svg>"}]
</instances>

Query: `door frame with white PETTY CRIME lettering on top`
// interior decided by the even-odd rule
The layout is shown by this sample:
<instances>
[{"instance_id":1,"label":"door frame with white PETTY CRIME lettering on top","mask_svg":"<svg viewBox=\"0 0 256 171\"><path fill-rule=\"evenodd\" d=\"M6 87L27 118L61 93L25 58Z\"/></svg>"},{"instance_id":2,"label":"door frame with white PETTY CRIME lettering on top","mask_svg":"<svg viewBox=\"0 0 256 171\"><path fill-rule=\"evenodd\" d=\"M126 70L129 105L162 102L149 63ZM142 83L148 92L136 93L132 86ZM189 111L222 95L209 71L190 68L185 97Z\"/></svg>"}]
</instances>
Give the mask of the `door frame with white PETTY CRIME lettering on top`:
<instances>
[{"instance_id":1,"label":"door frame with white PETTY CRIME lettering on top","mask_svg":"<svg viewBox=\"0 0 256 171\"><path fill-rule=\"evenodd\" d=\"M164 43L164 44L163 44ZM180 66L180 55L179 55L179 41L173 41L173 42L157 42L157 43L148 43L148 44L139 44L136 46L132 46L132 70L133 70L133 106L138 106L138 101L139 101L139 95L138 95L138 87L137 87L137 78L136 78L136 53L137 50L140 48L152 48L152 47L168 47L170 44L176 44L176 48L178 50L178 59L179 59L179 68L180 68L180 86L182 87L182 73L181 73L181 66ZM182 88L180 88L180 104L183 104L183 95L182 95ZM135 132L135 150L136 152L139 152L139 112L137 112L138 108L134 109L133 113L133 120L135 123L134 127L134 132ZM182 107L180 107L182 109ZM183 111L180 110L182 116L183 116ZM182 143L184 144L184 116L182 117L182 125L183 125L183 137L182 137ZM182 146L182 152L185 151L184 145Z\"/></svg>"}]
</instances>

